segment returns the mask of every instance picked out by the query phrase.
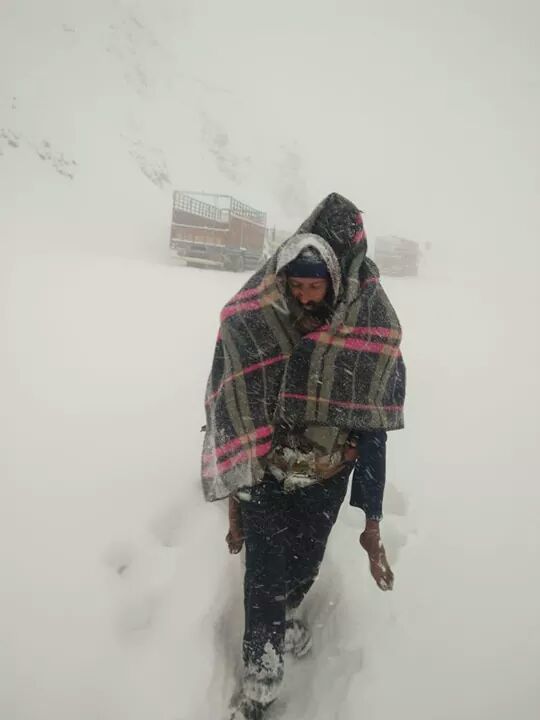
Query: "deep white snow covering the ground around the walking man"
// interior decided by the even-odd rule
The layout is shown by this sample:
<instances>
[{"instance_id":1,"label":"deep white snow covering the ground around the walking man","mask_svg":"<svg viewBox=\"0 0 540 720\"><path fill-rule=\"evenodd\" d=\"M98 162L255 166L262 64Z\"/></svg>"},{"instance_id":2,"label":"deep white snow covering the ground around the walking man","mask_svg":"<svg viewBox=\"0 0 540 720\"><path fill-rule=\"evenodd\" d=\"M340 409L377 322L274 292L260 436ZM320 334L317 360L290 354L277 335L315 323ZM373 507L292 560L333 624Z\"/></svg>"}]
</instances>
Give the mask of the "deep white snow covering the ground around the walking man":
<instances>
[{"instance_id":1,"label":"deep white snow covering the ground around the walking man","mask_svg":"<svg viewBox=\"0 0 540 720\"><path fill-rule=\"evenodd\" d=\"M21 253L11 280L2 716L219 716L241 562L224 507L201 498L199 427L218 309L240 277ZM315 653L291 669L284 717L532 720L538 463L535 429L513 433L514 398L493 394L510 353L474 350L461 321L469 352L445 343L449 283L385 285L409 365L384 521L396 588L377 591L361 513L344 508L307 607ZM485 332L501 349L497 322Z\"/></svg>"}]
</instances>

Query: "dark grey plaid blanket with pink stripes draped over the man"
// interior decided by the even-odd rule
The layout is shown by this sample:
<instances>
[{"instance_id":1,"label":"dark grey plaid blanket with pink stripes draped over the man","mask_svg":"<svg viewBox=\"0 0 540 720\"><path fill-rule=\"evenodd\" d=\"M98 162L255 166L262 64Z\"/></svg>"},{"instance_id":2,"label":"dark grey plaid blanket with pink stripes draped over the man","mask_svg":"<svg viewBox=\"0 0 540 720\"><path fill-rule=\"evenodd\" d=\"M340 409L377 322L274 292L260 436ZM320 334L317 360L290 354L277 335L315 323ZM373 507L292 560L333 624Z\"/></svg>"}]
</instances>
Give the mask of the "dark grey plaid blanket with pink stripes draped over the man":
<instances>
[{"instance_id":1,"label":"dark grey plaid blanket with pink stripes draped over the man","mask_svg":"<svg viewBox=\"0 0 540 720\"><path fill-rule=\"evenodd\" d=\"M300 335L280 271L306 245L329 267L335 309ZM223 308L206 391L207 500L262 480L278 424L403 427L401 327L366 249L361 212L332 193Z\"/></svg>"}]
</instances>

